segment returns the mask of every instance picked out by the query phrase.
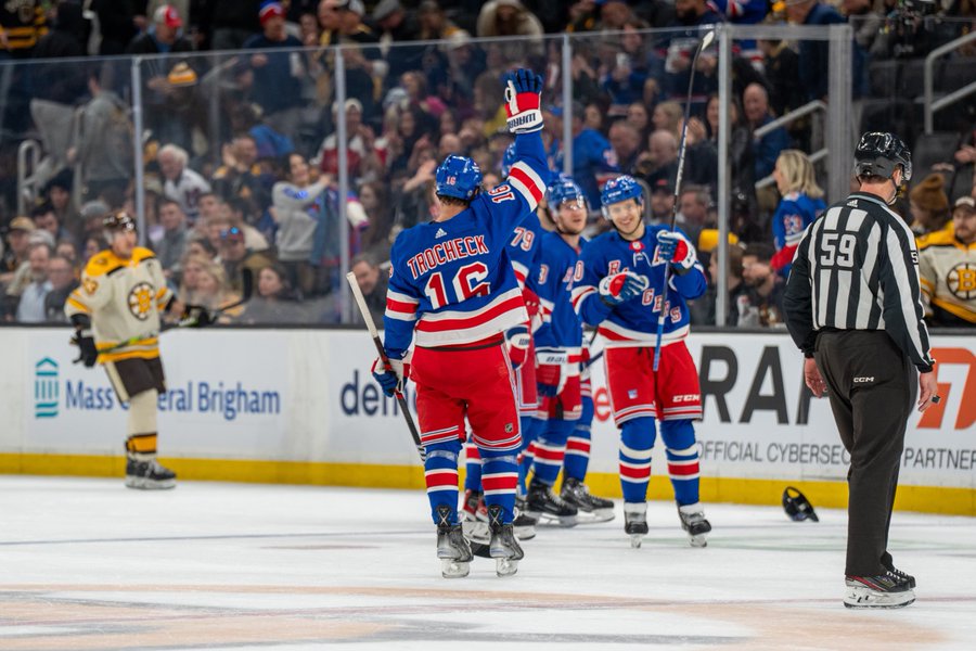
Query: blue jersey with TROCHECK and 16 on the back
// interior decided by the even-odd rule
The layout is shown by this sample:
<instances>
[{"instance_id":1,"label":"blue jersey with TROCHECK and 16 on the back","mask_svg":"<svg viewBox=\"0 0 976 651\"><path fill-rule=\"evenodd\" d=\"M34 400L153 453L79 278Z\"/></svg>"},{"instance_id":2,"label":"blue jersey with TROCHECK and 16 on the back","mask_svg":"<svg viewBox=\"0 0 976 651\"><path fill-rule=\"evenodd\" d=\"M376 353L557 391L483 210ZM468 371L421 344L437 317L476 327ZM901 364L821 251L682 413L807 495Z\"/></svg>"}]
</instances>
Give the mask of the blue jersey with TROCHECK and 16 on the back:
<instances>
[{"instance_id":1,"label":"blue jersey with TROCHECK and 16 on the back","mask_svg":"<svg viewBox=\"0 0 976 651\"><path fill-rule=\"evenodd\" d=\"M446 221L402 231L390 250L386 353L477 342L528 319L508 254L515 228L535 212L549 169L538 132L515 138L505 182ZM415 331L415 332L414 332Z\"/></svg>"}]
</instances>

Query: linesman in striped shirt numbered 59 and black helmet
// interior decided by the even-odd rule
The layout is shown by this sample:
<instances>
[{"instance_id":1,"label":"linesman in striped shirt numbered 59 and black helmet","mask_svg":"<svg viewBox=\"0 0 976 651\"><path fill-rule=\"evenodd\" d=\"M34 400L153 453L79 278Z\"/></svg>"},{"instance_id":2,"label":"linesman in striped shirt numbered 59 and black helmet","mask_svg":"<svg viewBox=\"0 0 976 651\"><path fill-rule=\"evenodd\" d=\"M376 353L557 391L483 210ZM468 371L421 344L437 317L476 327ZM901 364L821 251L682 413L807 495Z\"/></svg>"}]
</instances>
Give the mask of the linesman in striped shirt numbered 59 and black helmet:
<instances>
[{"instance_id":1,"label":"linesman in striped shirt numbered 59 and black helmet","mask_svg":"<svg viewBox=\"0 0 976 651\"><path fill-rule=\"evenodd\" d=\"M939 398L922 321L919 252L888 208L911 179L911 153L897 136L864 133L855 175L860 191L804 234L784 308L806 357L804 380L817 397L827 392L850 454L844 603L898 608L915 599L915 579L896 570L887 551L915 383L920 411Z\"/></svg>"}]
</instances>

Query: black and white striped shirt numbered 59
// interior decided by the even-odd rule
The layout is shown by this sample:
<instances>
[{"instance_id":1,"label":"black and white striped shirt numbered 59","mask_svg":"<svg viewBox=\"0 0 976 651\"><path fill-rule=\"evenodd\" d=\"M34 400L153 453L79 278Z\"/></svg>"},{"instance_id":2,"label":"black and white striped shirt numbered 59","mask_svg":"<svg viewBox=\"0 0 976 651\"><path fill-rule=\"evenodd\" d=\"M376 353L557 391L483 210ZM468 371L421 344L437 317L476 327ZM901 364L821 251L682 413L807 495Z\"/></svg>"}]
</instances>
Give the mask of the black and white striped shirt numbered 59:
<instances>
[{"instance_id":1,"label":"black and white striped shirt numbered 59","mask_svg":"<svg viewBox=\"0 0 976 651\"><path fill-rule=\"evenodd\" d=\"M873 194L851 194L807 228L783 306L808 357L818 331L884 330L920 371L932 370L915 238Z\"/></svg>"}]
</instances>

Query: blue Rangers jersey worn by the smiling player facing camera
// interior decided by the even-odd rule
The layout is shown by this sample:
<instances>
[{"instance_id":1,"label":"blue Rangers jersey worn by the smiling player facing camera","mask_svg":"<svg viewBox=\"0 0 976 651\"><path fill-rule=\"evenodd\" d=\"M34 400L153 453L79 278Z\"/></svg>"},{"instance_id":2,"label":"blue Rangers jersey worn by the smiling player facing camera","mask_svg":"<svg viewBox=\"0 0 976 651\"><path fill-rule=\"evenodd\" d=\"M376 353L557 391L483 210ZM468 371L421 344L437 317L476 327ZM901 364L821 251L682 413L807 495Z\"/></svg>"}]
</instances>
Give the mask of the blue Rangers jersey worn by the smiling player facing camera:
<instances>
[{"instance_id":1,"label":"blue Rangers jersey worn by the smiling player facing camera","mask_svg":"<svg viewBox=\"0 0 976 651\"><path fill-rule=\"evenodd\" d=\"M598 327L608 348L654 346L656 342L657 317L662 308L659 294L667 265L657 255L657 232L662 230L668 229L666 226L647 226L644 237L633 242L628 242L617 231L611 231L595 238L583 248L580 256L582 280L573 290L573 303L585 323ZM600 299L600 281L625 270L647 278L647 289L640 296L611 307ZM662 345L688 336L689 310L685 301L704 294L706 286L701 263L696 261L681 276L671 270L664 303L668 316Z\"/></svg>"}]
</instances>

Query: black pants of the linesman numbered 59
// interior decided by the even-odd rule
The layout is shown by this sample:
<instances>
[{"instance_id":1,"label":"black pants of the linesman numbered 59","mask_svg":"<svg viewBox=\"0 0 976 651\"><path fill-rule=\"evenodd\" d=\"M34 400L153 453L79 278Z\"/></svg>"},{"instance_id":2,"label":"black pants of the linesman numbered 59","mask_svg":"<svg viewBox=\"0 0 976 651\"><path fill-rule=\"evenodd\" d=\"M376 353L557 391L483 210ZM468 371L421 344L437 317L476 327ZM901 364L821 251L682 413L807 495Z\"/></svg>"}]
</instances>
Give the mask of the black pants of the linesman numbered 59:
<instances>
[{"instance_id":1,"label":"black pants of the linesman numbered 59","mask_svg":"<svg viewBox=\"0 0 976 651\"><path fill-rule=\"evenodd\" d=\"M884 574L891 565L888 527L916 371L884 331L822 332L814 358L850 454L845 573Z\"/></svg>"}]
</instances>

